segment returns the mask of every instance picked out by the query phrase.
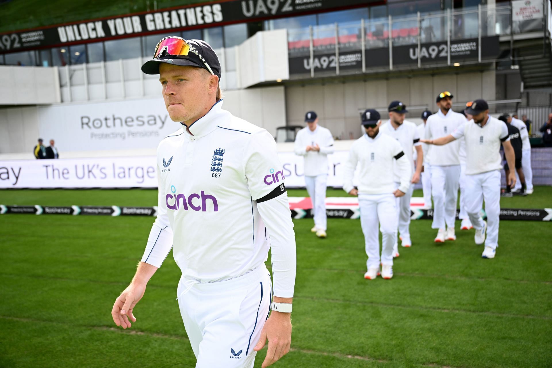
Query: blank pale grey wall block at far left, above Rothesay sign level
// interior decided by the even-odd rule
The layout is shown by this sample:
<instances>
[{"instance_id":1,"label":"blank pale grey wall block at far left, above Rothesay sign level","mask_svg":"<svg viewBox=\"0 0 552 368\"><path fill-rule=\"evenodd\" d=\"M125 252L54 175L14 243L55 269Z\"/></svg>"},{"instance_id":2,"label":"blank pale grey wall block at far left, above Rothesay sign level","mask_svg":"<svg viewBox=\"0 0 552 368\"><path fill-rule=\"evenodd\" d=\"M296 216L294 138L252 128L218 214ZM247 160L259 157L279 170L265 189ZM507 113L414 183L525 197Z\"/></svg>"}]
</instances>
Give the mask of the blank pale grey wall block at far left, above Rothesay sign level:
<instances>
[{"instance_id":1,"label":"blank pale grey wall block at far left, above Rothesay sign level","mask_svg":"<svg viewBox=\"0 0 552 368\"><path fill-rule=\"evenodd\" d=\"M61 102L57 67L0 66L0 106Z\"/></svg>"}]
</instances>

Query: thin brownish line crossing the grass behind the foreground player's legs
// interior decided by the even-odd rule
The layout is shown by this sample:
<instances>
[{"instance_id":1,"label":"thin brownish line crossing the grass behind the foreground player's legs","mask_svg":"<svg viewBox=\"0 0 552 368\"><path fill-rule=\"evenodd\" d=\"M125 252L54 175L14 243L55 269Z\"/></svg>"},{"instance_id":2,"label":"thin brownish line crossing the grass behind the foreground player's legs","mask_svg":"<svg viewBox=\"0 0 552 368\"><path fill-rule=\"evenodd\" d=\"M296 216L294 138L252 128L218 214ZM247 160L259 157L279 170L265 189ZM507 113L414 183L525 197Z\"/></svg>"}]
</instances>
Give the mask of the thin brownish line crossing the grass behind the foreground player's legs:
<instances>
[{"instance_id":1,"label":"thin brownish line crossing the grass behind the foreground player's legs","mask_svg":"<svg viewBox=\"0 0 552 368\"><path fill-rule=\"evenodd\" d=\"M75 325L70 324L70 323L53 322L53 321L49 321L49 320L41 320L41 319L34 319L34 318L20 318L20 317L10 317L10 316L0 316L0 319L17 320L18 322L28 322L28 323L57 324L57 325L66 325L66 326L70 326L70 327L75 327ZM144 332L144 331L140 331L140 330L122 329L122 328L108 327L108 326L79 325L78 327L92 329L92 330L98 330L98 331L107 331L107 332L119 333L119 334L140 335L140 336L146 336L146 337L152 337L152 338L189 341L189 339L187 337L180 336L180 335L160 334L160 333ZM263 348L263 350L266 350L267 348L268 348L268 346ZM384 363L384 364L393 362L392 360L378 359L378 358L373 358L371 356L351 355L351 354L342 354L342 353L330 353L328 351L319 351L319 350L291 348L290 351L293 351L295 353L302 353L302 354L316 354L316 355L322 355L322 356L334 356L336 358L342 358L342 359L355 359L355 360L379 362L379 363ZM422 364L422 365L427 366L427 367L434 367L434 368L458 368L458 367L454 367L454 366L438 365L438 364L433 364L433 363L427 363L427 364Z\"/></svg>"}]
</instances>

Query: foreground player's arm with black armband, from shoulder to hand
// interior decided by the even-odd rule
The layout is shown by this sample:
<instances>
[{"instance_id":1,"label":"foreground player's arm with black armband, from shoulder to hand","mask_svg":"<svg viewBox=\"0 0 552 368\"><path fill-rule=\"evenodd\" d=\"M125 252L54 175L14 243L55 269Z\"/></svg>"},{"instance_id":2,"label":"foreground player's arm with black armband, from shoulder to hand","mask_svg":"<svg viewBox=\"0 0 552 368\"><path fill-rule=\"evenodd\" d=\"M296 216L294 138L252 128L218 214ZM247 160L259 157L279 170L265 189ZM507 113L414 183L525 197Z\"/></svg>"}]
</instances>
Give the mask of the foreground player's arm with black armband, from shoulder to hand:
<instances>
[{"instance_id":1,"label":"foreground player's arm with black armband, from shoulder to hand","mask_svg":"<svg viewBox=\"0 0 552 368\"><path fill-rule=\"evenodd\" d=\"M288 194L283 181L266 185L263 176L270 169L282 168L272 136L263 130L254 133L245 149L245 174L251 197L270 239L274 302L293 301L296 272L295 233L291 221ZM278 170L278 169L277 169ZM262 367L272 365L289 352L291 346L291 313L273 311L261 330L261 338L254 347L259 351L268 339L267 356Z\"/></svg>"}]
</instances>

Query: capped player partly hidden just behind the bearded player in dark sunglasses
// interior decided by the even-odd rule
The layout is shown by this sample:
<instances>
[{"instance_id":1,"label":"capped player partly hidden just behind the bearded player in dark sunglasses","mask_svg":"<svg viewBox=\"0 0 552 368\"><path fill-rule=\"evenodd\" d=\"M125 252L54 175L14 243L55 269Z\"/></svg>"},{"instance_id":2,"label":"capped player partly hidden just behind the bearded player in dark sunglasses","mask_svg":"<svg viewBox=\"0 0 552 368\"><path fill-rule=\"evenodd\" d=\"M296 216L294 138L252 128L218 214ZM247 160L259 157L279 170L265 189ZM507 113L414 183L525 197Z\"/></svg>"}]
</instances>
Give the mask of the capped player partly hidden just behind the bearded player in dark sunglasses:
<instances>
[{"instance_id":1,"label":"capped player partly hidden just behind the bearded player in dark sunglasses","mask_svg":"<svg viewBox=\"0 0 552 368\"><path fill-rule=\"evenodd\" d=\"M393 101L388 107L389 120L380 127L380 132L391 136L401 144L402 151L405 153L406 159L410 162L410 170L413 172L411 177L411 184L416 184L420 181L420 174L422 172L423 151L422 144L420 143L420 135L418 135L418 129L416 124L405 120L405 113L407 113L406 105L400 101ZM416 154L420 157L420 160L416 162L416 166L413 158L413 149L416 149ZM401 171L397 162L394 166L395 175L395 189L400 186ZM412 246L412 239L410 237L410 198L412 198L412 192L414 186L411 185L408 191L402 197L397 197L397 217L399 218L399 235L401 238L401 245L408 248ZM399 256L398 238L395 240L393 247L393 256Z\"/></svg>"}]
</instances>

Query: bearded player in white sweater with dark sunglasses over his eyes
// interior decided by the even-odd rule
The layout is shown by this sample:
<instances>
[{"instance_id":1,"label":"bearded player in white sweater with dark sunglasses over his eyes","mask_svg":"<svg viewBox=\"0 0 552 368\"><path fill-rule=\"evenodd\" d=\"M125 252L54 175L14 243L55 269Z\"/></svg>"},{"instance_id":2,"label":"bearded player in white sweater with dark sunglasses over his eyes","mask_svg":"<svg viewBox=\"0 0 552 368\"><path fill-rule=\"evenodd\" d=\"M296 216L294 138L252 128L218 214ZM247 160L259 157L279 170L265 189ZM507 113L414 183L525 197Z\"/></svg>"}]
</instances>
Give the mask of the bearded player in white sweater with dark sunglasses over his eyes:
<instances>
[{"instance_id":1,"label":"bearded player in white sweater with dark sunglasses over his eyes","mask_svg":"<svg viewBox=\"0 0 552 368\"><path fill-rule=\"evenodd\" d=\"M358 196L360 225L364 233L365 249L368 255L364 274L367 280L374 280L380 274L393 277L393 245L397 236L397 204L395 198L402 197L410 188L411 163L401 144L391 136L380 132L380 114L368 109L362 114L366 134L355 140L349 158L343 168L343 190ZM399 188L395 186L396 165L400 174ZM358 166L358 189L353 186L353 175ZM378 223L380 227L378 226ZM381 229L381 257L378 228Z\"/></svg>"}]
</instances>

